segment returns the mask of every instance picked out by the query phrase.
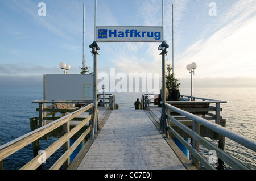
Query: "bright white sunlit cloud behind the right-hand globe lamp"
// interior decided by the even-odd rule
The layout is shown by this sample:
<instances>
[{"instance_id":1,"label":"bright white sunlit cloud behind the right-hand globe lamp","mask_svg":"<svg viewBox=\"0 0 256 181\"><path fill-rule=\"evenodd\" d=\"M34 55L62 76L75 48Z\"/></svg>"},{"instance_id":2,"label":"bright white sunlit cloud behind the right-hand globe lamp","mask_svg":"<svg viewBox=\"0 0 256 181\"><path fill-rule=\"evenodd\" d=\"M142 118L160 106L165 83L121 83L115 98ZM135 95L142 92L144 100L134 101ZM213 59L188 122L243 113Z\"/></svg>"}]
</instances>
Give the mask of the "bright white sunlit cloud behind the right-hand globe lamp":
<instances>
[{"instance_id":1,"label":"bright white sunlit cloud behind the right-hand globe lamp","mask_svg":"<svg viewBox=\"0 0 256 181\"><path fill-rule=\"evenodd\" d=\"M175 72L179 77L187 76L185 66L192 62L197 63L197 77L256 77L256 16L253 13L256 5L244 5L242 1L239 5L242 10L237 10L236 3L226 11L224 17L231 13L236 15L224 18L224 22L218 19L225 26L175 56ZM235 10L242 13L238 15Z\"/></svg>"}]
</instances>

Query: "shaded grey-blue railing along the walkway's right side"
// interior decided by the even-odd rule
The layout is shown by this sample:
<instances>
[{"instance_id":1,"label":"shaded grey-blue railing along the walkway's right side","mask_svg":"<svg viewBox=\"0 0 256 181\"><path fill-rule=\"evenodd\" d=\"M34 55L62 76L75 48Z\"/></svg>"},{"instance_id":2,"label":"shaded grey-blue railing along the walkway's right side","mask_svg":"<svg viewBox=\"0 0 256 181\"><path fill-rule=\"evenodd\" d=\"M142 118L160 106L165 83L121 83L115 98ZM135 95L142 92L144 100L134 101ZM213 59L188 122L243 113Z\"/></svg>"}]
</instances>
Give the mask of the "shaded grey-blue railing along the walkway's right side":
<instances>
[{"instance_id":1,"label":"shaded grey-blue railing along the walkway's right side","mask_svg":"<svg viewBox=\"0 0 256 181\"><path fill-rule=\"evenodd\" d=\"M204 100L207 100L207 99L204 99ZM208 99L208 100L209 100L209 102L214 102L216 104L220 103L216 100L212 100L212 99ZM217 106L217 108L218 108L218 106ZM207 169L215 169L210 164L210 162L207 161L199 153L199 144L201 144L209 150L216 151L216 155L217 155L216 158L218 157L219 159L221 159L221 161L225 162L230 167L232 167L234 169L248 169L246 166L244 166L242 163L240 163L237 159L231 157L228 153L226 153L225 147L223 145L221 146L222 148L218 148L217 146L214 146L209 141L205 140L204 137L200 136L199 126L203 125L204 127L207 127L208 129L220 134L220 139L222 139L222 142L223 142L223 140L225 140L225 138L229 138L230 140L233 140L233 141L237 142L238 144L241 144L241 145L245 146L246 148L249 148L253 151L256 151L256 141L251 140L250 138L247 138L247 137L237 134L235 132L232 132L229 129L222 127L218 123L213 123L212 121L204 119L204 117L199 117L199 116L189 113L187 111L181 110L180 108L172 106L171 104L166 103L166 110L167 110L167 119L171 121L170 123L172 125L175 124L182 131L184 131L185 133L187 133L189 136L192 137L192 140L193 140L192 146L187 141L185 141L184 138L182 136L180 136L179 133L177 133L174 130L174 128L172 127L172 125L170 123L168 124L167 120L166 120L167 128L164 128L164 129L168 129L168 131L170 131L172 134L174 134L175 137L185 146L185 148L187 148L191 152L192 157L193 157L192 163L197 168L199 168L199 162L200 162ZM179 113L179 115L182 115L189 120L192 120L192 129L190 129L186 125L184 125L184 123L182 123L182 121L177 120L177 117L172 115L170 110L172 110L176 113Z\"/></svg>"}]
</instances>

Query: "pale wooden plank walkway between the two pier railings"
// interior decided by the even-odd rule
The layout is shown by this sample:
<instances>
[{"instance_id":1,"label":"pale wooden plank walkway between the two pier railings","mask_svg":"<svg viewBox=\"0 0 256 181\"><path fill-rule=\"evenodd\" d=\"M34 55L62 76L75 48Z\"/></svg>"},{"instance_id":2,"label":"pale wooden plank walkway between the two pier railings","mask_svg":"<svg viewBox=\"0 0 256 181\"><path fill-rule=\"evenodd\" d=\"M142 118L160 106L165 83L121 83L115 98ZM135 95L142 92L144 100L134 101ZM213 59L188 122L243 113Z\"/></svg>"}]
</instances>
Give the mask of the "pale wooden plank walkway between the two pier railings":
<instances>
[{"instance_id":1,"label":"pale wooden plank walkway between the two pier railings","mask_svg":"<svg viewBox=\"0 0 256 181\"><path fill-rule=\"evenodd\" d=\"M144 110L113 110L77 167L88 169L185 169Z\"/></svg>"}]
</instances>

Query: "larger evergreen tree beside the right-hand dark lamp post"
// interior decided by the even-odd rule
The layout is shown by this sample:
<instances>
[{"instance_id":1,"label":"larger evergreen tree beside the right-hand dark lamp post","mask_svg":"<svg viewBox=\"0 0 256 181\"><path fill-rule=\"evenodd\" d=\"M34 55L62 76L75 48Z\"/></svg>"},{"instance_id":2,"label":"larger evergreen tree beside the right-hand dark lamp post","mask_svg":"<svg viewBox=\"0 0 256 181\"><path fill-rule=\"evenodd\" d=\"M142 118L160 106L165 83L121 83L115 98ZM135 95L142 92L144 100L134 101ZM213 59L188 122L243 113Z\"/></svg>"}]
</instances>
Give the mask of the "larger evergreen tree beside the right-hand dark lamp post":
<instances>
[{"instance_id":1,"label":"larger evergreen tree beside the right-hand dark lamp post","mask_svg":"<svg viewBox=\"0 0 256 181\"><path fill-rule=\"evenodd\" d=\"M171 73L172 66L169 62L167 62L167 64L166 64L166 70L167 70L167 72L166 72L166 87L169 91L169 96L168 96L167 100L172 100L171 93L175 89L175 87L179 88L180 83L178 83L179 80L177 78L172 76L172 73Z\"/></svg>"}]
</instances>

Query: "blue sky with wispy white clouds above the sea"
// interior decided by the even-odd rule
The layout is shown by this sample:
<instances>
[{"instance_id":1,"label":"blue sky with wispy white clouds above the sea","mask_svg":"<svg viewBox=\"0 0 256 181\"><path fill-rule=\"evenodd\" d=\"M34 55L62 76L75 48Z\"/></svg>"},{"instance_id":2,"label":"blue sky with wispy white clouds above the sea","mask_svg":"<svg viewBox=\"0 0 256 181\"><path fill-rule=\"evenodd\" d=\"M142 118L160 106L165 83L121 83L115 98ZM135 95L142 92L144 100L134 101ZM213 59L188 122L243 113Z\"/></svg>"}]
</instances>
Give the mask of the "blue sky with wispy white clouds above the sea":
<instances>
[{"instance_id":1,"label":"blue sky with wispy white clouds above the sea","mask_svg":"<svg viewBox=\"0 0 256 181\"><path fill-rule=\"evenodd\" d=\"M46 5L44 15L39 15ZM0 0L0 87L42 85L43 74L62 74L60 62L82 67L83 4L85 65L93 71L93 0ZM189 87L186 66L196 62L194 87L256 87L256 2L254 0L164 0L164 40L174 73ZM97 0L97 26L162 26L161 0ZM162 75L160 42L99 42L97 74Z\"/></svg>"}]
</instances>

